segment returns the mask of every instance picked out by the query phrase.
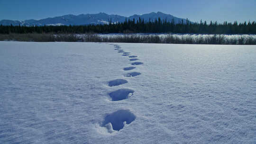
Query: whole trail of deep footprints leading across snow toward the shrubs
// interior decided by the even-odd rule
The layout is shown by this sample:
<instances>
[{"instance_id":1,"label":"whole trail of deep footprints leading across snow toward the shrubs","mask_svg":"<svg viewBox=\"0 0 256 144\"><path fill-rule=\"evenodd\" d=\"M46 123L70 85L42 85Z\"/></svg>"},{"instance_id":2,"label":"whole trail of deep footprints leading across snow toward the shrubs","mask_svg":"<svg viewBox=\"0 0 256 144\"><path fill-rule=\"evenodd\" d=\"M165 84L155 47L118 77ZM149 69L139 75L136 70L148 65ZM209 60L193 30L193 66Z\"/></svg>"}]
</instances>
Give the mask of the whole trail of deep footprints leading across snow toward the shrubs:
<instances>
[{"instance_id":1,"label":"whole trail of deep footprints leading across snow toward the shrubs","mask_svg":"<svg viewBox=\"0 0 256 144\"><path fill-rule=\"evenodd\" d=\"M110 44L113 45L113 44ZM129 61L137 61L139 60L136 58L136 55L131 55L128 52L124 52L124 50L121 49L119 45L114 45L114 50L117 50L118 53L122 53L122 56L128 56L130 59ZM140 65L143 64L142 62L133 62L131 65ZM124 71L130 71L135 69L135 66L129 66L123 68ZM140 75L140 72L127 72L123 76L124 77L136 77ZM108 82L108 86L115 87L122 84L128 83L127 80L124 79L116 79L111 80ZM112 91L109 93L109 96L112 101L119 101L119 100L125 100L131 97L134 93L134 90L131 89L118 89L115 91ZM106 127L109 133L112 133L114 131L119 131L122 129L126 124L130 124L132 121L134 121L136 116L130 112L128 109L121 109L118 111L115 111L109 115L107 115L104 118L104 121L102 122L103 127Z\"/></svg>"}]
</instances>

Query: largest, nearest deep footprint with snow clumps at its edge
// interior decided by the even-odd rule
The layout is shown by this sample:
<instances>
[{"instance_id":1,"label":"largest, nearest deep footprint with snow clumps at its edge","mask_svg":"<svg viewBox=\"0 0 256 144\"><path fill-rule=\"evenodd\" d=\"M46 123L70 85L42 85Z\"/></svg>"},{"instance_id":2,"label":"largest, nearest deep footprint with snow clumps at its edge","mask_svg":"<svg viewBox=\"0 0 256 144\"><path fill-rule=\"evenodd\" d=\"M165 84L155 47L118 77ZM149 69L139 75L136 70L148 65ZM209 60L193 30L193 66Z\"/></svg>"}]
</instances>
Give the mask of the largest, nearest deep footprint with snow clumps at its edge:
<instances>
[{"instance_id":1,"label":"largest, nearest deep footprint with snow clumps at its edge","mask_svg":"<svg viewBox=\"0 0 256 144\"><path fill-rule=\"evenodd\" d=\"M112 133L113 130L119 131L124 125L130 124L135 118L136 116L129 110L121 109L107 115L101 126L106 127L109 133Z\"/></svg>"}]
</instances>

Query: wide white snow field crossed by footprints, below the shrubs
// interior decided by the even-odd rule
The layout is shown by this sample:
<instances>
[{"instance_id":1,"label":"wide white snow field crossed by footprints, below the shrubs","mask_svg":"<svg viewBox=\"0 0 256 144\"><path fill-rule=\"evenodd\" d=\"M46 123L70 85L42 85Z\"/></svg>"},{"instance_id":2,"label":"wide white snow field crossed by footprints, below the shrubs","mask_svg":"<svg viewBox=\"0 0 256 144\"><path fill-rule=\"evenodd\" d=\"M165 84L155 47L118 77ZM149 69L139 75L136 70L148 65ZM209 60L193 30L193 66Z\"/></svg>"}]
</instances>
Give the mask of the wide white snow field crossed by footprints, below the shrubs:
<instances>
[{"instance_id":1,"label":"wide white snow field crossed by footprints, below the shrubs","mask_svg":"<svg viewBox=\"0 0 256 144\"><path fill-rule=\"evenodd\" d=\"M0 61L1 144L256 143L255 45L0 42Z\"/></svg>"}]
</instances>

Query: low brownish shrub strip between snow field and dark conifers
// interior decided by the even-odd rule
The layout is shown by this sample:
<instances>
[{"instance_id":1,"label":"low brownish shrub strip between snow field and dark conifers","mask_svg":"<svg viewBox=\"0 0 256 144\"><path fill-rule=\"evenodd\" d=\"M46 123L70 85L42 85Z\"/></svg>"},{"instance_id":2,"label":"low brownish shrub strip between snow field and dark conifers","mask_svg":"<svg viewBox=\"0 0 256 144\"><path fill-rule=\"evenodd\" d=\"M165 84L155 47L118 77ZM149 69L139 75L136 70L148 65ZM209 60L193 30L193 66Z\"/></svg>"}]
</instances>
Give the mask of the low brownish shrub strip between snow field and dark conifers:
<instances>
[{"instance_id":1,"label":"low brownish shrub strip between snow field and dark conifers","mask_svg":"<svg viewBox=\"0 0 256 144\"><path fill-rule=\"evenodd\" d=\"M0 41L27 42L110 42L110 43L162 43L162 44L214 44L214 45L256 45L253 36L241 35L226 38L223 35L176 36L125 34L115 37L101 37L98 34L0 34Z\"/></svg>"}]
</instances>

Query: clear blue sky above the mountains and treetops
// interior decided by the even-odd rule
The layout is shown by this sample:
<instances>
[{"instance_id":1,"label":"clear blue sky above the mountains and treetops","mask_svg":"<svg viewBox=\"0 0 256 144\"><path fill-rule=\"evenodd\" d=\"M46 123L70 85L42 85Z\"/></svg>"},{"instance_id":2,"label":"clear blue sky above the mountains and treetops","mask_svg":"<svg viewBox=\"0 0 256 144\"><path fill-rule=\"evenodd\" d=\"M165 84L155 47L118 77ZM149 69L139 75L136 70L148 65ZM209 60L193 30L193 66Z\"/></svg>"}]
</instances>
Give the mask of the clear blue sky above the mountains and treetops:
<instances>
[{"instance_id":1,"label":"clear blue sky above the mountains and treetops","mask_svg":"<svg viewBox=\"0 0 256 144\"><path fill-rule=\"evenodd\" d=\"M256 0L0 0L0 20L105 12L121 16L161 11L191 21L256 21Z\"/></svg>"}]
</instances>

